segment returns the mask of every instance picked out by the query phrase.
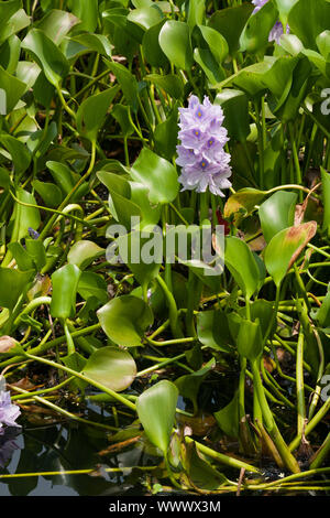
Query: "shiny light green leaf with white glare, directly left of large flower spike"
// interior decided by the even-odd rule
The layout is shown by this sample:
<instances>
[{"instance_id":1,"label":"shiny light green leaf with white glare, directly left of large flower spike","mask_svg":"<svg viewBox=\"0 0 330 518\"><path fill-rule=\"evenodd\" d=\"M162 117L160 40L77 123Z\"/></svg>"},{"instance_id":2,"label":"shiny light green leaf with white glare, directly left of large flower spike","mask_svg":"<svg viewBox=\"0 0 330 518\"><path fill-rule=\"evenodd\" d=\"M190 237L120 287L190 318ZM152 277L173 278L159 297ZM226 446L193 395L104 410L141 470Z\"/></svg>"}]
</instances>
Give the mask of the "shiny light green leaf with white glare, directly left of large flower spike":
<instances>
[{"instance_id":1,"label":"shiny light green leaf with white glare, directly left of large flower spike","mask_svg":"<svg viewBox=\"0 0 330 518\"><path fill-rule=\"evenodd\" d=\"M178 194L176 169L147 148L142 149L132 165L131 176L148 188L148 198L153 204L173 202Z\"/></svg>"}]
</instances>

